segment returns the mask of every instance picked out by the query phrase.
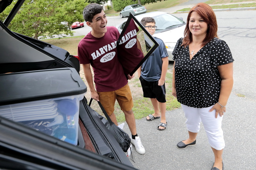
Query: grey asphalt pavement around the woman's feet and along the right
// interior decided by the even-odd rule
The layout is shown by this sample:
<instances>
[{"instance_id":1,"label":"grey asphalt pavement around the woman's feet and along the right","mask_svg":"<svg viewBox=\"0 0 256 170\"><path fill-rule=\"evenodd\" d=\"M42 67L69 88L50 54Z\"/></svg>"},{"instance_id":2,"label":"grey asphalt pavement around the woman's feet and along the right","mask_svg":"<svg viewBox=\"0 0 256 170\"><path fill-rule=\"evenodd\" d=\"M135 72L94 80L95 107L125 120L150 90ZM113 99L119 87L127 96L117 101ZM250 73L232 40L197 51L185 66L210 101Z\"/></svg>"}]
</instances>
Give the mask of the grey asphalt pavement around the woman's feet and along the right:
<instances>
[{"instance_id":1,"label":"grey asphalt pavement around the woman's feet and along the right","mask_svg":"<svg viewBox=\"0 0 256 170\"><path fill-rule=\"evenodd\" d=\"M226 147L223 153L225 170L256 169L256 11L215 11L219 38L226 41L234 62L234 86L227 104L222 128ZM188 13L176 13L186 20ZM172 65L173 62L170 62ZM211 169L214 156L204 127L196 145L184 150L176 144L188 137L181 108L167 111L167 129L156 129L159 121L136 120L137 132L146 149L140 155L133 147L133 166L140 170ZM124 130L130 135L128 125Z\"/></svg>"}]
</instances>

